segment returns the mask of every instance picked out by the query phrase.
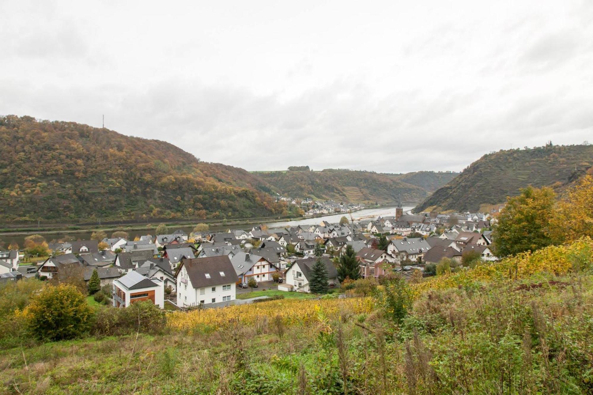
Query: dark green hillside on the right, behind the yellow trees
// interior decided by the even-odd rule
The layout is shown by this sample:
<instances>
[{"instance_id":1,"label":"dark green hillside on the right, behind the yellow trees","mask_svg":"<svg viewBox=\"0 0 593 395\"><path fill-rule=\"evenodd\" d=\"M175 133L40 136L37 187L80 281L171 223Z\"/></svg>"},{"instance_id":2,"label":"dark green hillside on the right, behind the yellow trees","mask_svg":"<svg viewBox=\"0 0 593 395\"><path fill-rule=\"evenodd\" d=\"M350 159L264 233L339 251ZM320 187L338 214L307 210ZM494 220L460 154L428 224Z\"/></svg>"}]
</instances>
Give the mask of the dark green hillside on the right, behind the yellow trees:
<instances>
[{"instance_id":1,"label":"dark green hillside on the right, behind the yellow trees","mask_svg":"<svg viewBox=\"0 0 593 395\"><path fill-rule=\"evenodd\" d=\"M519 188L551 186L562 192L591 170L593 145L544 146L486 154L415 211L477 211L483 204L503 203Z\"/></svg>"}]
</instances>

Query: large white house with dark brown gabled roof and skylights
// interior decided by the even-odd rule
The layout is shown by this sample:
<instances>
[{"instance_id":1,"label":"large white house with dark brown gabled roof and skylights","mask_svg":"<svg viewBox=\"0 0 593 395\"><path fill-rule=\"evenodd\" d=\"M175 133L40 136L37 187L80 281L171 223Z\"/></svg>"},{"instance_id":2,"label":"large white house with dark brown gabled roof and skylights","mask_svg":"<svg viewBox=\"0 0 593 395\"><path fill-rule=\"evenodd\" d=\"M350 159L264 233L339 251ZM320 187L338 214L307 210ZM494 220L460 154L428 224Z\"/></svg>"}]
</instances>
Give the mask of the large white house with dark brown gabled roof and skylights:
<instances>
[{"instance_id":1,"label":"large white house with dark brown gabled roof and skylights","mask_svg":"<svg viewBox=\"0 0 593 395\"><path fill-rule=\"evenodd\" d=\"M184 259L175 273L177 306L227 302L235 299L238 281L235 267L228 256Z\"/></svg>"}]
</instances>

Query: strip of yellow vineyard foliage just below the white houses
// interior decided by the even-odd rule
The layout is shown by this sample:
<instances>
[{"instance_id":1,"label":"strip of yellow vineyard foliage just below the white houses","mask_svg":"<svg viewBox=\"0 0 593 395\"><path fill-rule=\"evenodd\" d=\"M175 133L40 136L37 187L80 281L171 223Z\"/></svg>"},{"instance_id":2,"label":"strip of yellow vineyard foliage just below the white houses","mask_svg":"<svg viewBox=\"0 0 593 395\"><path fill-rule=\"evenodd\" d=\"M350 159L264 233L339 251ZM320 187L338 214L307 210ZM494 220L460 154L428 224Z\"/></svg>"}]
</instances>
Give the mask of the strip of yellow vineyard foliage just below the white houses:
<instances>
[{"instance_id":1,"label":"strip of yellow vineyard foliage just below the white houses","mask_svg":"<svg viewBox=\"0 0 593 395\"><path fill-rule=\"evenodd\" d=\"M372 310L371 298L345 298L322 300L285 299L264 303L235 305L224 308L209 308L194 310L189 313L175 311L167 316L167 326L170 329L191 331L200 327L219 329L231 322L240 324L254 324L256 321L282 317L287 325L318 323L318 313L369 313Z\"/></svg>"}]
</instances>

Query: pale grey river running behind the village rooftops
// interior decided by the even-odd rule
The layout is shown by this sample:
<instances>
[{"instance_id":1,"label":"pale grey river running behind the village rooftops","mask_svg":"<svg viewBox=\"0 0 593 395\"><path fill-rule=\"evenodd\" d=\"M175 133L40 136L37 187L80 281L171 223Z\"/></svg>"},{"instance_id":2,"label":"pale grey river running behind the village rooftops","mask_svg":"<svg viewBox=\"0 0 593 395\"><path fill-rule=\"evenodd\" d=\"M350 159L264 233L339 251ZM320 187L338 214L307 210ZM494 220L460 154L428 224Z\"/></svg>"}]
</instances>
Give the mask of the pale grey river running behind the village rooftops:
<instances>
[{"instance_id":1,"label":"pale grey river running behind the village rooftops","mask_svg":"<svg viewBox=\"0 0 593 395\"><path fill-rule=\"evenodd\" d=\"M407 212L413 209L413 206L404 206L404 212ZM364 209L361 211L356 211L352 213L355 221L359 221L365 218L377 218L378 216L389 216L395 215L396 208L395 207L382 207L382 208L374 208L374 209ZM321 221L327 222L339 222L342 216L346 216L346 218L350 219L350 216L347 213L339 213L339 214L331 214L331 215L324 215L318 216L317 218L306 218L306 219L298 219L296 221L280 221L280 222L271 222L267 223L268 228L285 228L285 227L294 227L297 225L305 225L305 224L320 224ZM243 229L243 230L251 230L254 224L244 224L244 225L233 225L232 228L234 229ZM212 231L224 231L227 230L229 227L211 227ZM192 232L193 227L176 227L175 225L170 226L171 231L181 229L188 234ZM126 232L129 234L130 240L133 240L136 236L142 236L145 234L152 234L154 236L154 231L149 230L130 230ZM41 232L43 234L43 232ZM31 232L31 234L35 234L35 232ZM107 232L107 236L111 235L111 231ZM59 234L47 234L43 235L46 240L89 240L91 238L91 231L71 231L71 232L63 232ZM16 242L18 246L22 249L24 244L25 235L15 235L15 236L2 236L0 235L0 240L3 241L4 248L8 247L10 243Z\"/></svg>"}]
</instances>

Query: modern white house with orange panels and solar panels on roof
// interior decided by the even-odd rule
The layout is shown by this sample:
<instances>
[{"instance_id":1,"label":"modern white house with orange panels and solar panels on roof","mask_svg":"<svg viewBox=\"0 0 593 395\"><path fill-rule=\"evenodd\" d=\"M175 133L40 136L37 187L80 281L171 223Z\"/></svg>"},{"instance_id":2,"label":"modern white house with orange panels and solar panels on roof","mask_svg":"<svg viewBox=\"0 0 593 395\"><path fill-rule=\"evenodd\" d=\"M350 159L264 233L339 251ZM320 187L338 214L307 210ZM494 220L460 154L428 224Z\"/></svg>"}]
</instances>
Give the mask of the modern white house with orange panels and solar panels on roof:
<instances>
[{"instance_id":1,"label":"modern white house with orange panels and solar panels on roof","mask_svg":"<svg viewBox=\"0 0 593 395\"><path fill-rule=\"evenodd\" d=\"M165 305L164 283L138 272L129 272L114 280L111 296L114 307L128 307L132 303L148 300L160 308Z\"/></svg>"}]
</instances>

